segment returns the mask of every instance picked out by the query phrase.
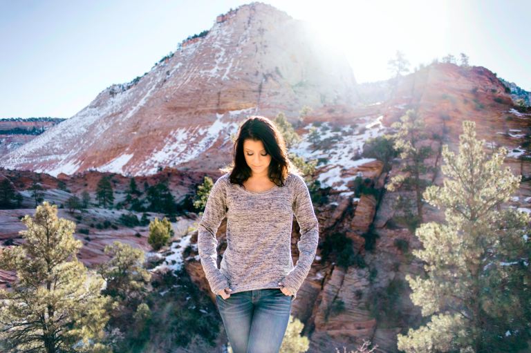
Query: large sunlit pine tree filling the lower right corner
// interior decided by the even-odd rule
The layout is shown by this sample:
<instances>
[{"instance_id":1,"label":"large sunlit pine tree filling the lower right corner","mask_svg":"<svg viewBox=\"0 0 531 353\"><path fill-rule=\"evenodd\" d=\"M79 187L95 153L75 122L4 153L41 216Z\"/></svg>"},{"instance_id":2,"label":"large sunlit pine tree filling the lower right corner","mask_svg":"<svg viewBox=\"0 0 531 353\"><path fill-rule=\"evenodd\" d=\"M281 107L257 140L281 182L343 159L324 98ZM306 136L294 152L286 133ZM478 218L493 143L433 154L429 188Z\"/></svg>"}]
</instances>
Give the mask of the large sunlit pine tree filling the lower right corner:
<instances>
[{"instance_id":1,"label":"large sunlit pine tree filling the lower right corner","mask_svg":"<svg viewBox=\"0 0 531 353\"><path fill-rule=\"evenodd\" d=\"M446 222L416 231L424 249L413 254L426 275L406 280L431 321L398 335L405 352L519 352L531 338L531 218L501 209L521 177L502 169L505 147L489 158L474 127L463 122L457 156L443 146L443 187L423 194L445 209Z\"/></svg>"}]
</instances>

